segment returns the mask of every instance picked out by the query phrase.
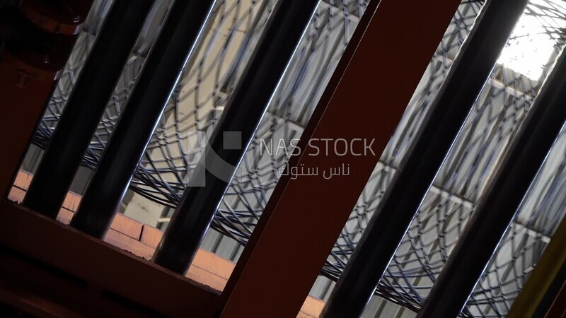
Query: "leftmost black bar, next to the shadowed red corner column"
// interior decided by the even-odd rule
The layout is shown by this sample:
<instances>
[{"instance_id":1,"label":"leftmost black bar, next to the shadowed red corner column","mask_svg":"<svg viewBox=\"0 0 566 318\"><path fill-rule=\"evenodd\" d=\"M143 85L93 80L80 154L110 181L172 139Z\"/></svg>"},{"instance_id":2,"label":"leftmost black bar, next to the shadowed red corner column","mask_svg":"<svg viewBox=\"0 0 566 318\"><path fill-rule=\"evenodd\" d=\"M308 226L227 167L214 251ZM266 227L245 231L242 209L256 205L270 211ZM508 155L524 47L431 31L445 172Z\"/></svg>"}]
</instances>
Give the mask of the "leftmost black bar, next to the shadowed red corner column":
<instances>
[{"instance_id":1,"label":"leftmost black bar, next to the shadowed red corner column","mask_svg":"<svg viewBox=\"0 0 566 318\"><path fill-rule=\"evenodd\" d=\"M28 208L57 217L153 3L112 4L25 195Z\"/></svg>"}]
</instances>

